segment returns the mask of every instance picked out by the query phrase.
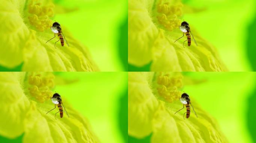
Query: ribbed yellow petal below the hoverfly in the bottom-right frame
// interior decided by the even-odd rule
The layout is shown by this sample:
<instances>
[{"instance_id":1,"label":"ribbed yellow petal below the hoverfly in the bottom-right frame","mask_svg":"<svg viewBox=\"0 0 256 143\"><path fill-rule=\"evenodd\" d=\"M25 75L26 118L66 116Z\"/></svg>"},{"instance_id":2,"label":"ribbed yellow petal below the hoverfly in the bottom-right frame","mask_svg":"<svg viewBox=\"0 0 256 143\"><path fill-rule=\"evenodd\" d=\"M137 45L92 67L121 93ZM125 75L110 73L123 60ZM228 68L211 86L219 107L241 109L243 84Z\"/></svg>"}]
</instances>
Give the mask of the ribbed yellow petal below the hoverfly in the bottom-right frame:
<instances>
[{"instance_id":1,"label":"ribbed yellow petal below the hoverfly in the bottom-right frame","mask_svg":"<svg viewBox=\"0 0 256 143\"><path fill-rule=\"evenodd\" d=\"M161 101L153 118L152 143L226 143L227 140L220 131L213 117L203 111L196 103L193 104L198 118L191 108L191 116L183 119L186 109L182 108L180 101L166 103Z\"/></svg>"}]
</instances>

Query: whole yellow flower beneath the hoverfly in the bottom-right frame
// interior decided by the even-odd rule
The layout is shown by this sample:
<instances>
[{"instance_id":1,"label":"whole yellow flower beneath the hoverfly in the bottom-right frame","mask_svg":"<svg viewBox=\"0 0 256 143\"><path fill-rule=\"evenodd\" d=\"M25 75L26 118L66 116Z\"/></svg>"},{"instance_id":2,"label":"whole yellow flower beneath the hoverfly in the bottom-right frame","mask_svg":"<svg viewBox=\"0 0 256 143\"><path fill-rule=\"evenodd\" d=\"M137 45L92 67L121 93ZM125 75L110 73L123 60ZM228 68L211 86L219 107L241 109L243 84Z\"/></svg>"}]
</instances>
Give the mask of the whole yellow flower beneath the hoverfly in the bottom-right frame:
<instances>
[{"instance_id":1,"label":"whole yellow flower beneath the hoverfly in the bottom-right frame","mask_svg":"<svg viewBox=\"0 0 256 143\"><path fill-rule=\"evenodd\" d=\"M180 73L129 72L128 134L138 139L152 134L151 143L227 142L213 117L190 96L198 118L183 119L179 101ZM189 94L189 93L188 93Z\"/></svg>"}]
</instances>

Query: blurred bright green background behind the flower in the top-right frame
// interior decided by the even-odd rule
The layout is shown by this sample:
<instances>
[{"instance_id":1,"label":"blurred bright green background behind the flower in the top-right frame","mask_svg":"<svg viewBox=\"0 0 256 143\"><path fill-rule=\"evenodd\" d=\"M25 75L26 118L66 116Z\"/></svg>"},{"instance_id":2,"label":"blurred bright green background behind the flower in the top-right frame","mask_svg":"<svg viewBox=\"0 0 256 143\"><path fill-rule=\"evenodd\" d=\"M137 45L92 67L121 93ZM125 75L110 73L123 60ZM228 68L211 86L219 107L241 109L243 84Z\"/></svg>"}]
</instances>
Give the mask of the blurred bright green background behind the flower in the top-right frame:
<instances>
[{"instance_id":1,"label":"blurred bright green background behind the flower in the top-right frame","mask_svg":"<svg viewBox=\"0 0 256 143\"><path fill-rule=\"evenodd\" d=\"M182 3L182 19L217 48L229 71L256 71L255 0L182 0ZM128 67L129 71L150 70L150 64Z\"/></svg>"}]
</instances>

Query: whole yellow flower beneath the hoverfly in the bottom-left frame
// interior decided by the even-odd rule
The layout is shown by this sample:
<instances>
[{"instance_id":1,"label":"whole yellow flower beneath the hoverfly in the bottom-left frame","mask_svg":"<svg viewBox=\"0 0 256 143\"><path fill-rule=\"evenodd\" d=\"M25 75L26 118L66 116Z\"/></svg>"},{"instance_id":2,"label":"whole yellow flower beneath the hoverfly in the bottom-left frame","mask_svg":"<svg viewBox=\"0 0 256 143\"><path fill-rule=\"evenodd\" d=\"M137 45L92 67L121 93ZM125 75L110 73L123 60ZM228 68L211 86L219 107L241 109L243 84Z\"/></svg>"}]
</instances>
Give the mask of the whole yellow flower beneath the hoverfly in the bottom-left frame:
<instances>
[{"instance_id":1,"label":"whole yellow flower beneath the hoverfly in the bottom-left frame","mask_svg":"<svg viewBox=\"0 0 256 143\"><path fill-rule=\"evenodd\" d=\"M0 135L10 139L24 134L23 142L86 142L96 143L97 137L88 121L65 102L70 118L60 118L51 101L54 88L52 73L0 73ZM63 96L62 96L63 98Z\"/></svg>"}]
</instances>

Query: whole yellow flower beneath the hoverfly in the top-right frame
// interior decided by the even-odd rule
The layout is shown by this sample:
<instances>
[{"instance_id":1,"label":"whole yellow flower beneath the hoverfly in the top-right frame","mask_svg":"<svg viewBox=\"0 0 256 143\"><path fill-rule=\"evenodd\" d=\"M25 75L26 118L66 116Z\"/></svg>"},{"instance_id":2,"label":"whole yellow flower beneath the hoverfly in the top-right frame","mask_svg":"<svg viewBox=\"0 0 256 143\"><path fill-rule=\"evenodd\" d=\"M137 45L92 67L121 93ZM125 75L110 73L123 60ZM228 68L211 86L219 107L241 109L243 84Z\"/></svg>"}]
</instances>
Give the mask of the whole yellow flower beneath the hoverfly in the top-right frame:
<instances>
[{"instance_id":1,"label":"whole yellow flower beneath the hoverfly in the top-right frame","mask_svg":"<svg viewBox=\"0 0 256 143\"><path fill-rule=\"evenodd\" d=\"M151 71L226 71L217 50L193 23L198 46L192 41L184 48L182 39L174 43L182 36L182 7L179 0L128 0L129 64L141 67L152 62Z\"/></svg>"}]
</instances>

